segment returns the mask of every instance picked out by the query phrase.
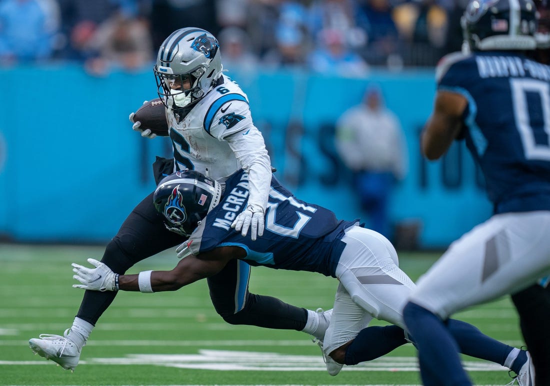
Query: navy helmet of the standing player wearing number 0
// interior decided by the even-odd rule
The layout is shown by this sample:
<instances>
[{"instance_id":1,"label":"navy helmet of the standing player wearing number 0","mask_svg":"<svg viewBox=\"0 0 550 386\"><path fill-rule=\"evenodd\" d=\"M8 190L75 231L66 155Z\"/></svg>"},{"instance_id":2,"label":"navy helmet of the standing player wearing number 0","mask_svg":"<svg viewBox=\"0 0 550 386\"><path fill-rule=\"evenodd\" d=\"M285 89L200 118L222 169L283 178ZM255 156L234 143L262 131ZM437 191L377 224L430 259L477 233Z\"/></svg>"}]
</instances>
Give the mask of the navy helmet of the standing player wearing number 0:
<instances>
[{"instance_id":1,"label":"navy helmet of the standing player wearing number 0","mask_svg":"<svg viewBox=\"0 0 550 386\"><path fill-rule=\"evenodd\" d=\"M471 0L461 19L466 46L478 51L536 48L532 0Z\"/></svg>"}]
</instances>

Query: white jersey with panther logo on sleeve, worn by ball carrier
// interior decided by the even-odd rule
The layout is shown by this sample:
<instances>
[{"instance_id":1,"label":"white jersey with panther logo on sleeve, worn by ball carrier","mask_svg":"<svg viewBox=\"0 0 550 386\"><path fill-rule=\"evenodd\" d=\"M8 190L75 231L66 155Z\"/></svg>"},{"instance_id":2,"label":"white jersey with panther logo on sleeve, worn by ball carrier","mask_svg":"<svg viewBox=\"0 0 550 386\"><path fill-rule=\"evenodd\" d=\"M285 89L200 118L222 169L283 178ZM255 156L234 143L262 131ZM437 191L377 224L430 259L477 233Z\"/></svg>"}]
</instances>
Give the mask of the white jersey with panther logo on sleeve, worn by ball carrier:
<instances>
[{"instance_id":1,"label":"white jersey with panther logo on sleeve, worn by ball carrier","mask_svg":"<svg viewBox=\"0 0 550 386\"><path fill-rule=\"evenodd\" d=\"M178 122L172 109L166 118L174 151L174 172L197 170L220 183L243 168L250 174L251 201L265 208L271 161L260 131L252 122L248 97L223 76ZM254 197L253 197L254 196Z\"/></svg>"}]
</instances>

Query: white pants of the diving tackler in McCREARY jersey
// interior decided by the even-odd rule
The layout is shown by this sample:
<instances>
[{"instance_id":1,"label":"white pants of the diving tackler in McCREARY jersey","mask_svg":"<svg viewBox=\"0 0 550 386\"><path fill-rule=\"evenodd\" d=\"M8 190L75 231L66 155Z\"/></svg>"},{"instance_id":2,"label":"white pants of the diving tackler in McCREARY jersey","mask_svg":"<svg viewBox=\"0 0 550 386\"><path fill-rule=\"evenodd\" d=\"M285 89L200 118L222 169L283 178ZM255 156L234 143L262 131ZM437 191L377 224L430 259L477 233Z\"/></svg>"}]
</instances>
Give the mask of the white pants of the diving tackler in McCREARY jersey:
<instances>
[{"instance_id":1,"label":"white pants of the diving tackler in McCREARY jersey","mask_svg":"<svg viewBox=\"0 0 550 386\"><path fill-rule=\"evenodd\" d=\"M355 339L372 318L404 328L401 310L415 286L383 235L355 226L342 241L346 246L336 268L340 284L323 340L327 355Z\"/></svg>"}]
</instances>

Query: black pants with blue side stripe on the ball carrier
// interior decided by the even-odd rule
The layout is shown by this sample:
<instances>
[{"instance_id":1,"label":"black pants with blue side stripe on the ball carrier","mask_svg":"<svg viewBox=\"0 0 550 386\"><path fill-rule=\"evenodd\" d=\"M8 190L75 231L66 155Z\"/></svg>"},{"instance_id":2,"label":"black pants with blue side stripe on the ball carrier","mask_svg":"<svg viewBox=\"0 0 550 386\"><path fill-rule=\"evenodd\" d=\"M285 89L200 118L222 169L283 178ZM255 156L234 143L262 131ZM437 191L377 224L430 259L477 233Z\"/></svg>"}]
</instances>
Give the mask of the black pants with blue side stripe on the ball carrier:
<instances>
[{"instance_id":1,"label":"black pants with blue side stripe on the ball carrier","mask_svg":"<svg viewBox=\"0 0 550 386\"><path fill-rule=\"evenodd\" d=\"M185 241L183 236L164 227L152 197L151 193L134 208L107 244L101 261L113 272L123 274L135 263ZM285 304L274 297L251 294L249 275L248 264L233 260L221 272L208 278L212 303L226 322L278 329L302 330L305 327L305 308ZM112 291L85 291L76 316L95 326L116 295L117 292Z\"/></svg>"}]
</instances>

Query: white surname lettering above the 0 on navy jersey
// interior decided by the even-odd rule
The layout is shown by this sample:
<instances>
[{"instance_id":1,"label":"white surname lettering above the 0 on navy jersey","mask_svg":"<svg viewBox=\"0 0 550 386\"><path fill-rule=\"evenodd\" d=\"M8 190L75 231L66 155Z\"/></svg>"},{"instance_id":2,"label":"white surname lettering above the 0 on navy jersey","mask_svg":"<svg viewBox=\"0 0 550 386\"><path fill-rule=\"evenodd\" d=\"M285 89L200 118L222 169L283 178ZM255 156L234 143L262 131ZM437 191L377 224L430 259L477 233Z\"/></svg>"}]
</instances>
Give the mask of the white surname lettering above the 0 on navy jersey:
<instances>
[{"instance_id":1,"label":"white surname lettering above the 0 on navy jersey","mask_svg":"<svg viewBox=\"0 0 550 386\"><path fill-rule=\"evenodd\" d=\"M550 67L517 56L476 56L481 78L531 76L550 81Z\"/></svg>"}]
</instances>

